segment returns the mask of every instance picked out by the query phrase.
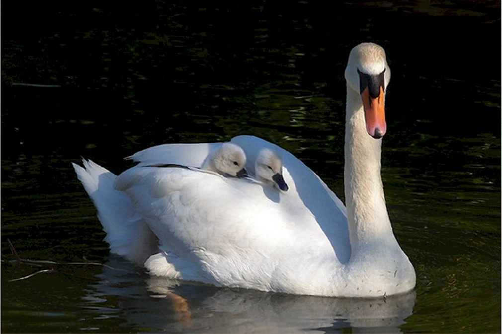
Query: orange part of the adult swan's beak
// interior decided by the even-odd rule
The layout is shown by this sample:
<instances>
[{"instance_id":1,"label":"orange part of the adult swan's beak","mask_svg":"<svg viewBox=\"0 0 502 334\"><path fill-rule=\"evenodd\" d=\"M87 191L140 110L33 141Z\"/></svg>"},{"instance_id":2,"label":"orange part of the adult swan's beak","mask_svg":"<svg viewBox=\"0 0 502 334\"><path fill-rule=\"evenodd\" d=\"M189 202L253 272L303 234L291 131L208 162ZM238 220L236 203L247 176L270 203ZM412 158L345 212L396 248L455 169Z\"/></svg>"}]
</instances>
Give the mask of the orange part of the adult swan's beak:
<instances>
[{"instance_id":1,"label":"orange part of the adult swan's beak","mask_svg":"<svg viewBox=\"0 0 502 334\"><path fill-rule=\"evenodd\" d=\"M387 130L385 123L384 87L380 87L379 96L373 98L369 95L366 87L362 93L362 105L364 107L364 118L366 119L366 130L375 139L382 138Z\"/></svg>"}]
</instances>

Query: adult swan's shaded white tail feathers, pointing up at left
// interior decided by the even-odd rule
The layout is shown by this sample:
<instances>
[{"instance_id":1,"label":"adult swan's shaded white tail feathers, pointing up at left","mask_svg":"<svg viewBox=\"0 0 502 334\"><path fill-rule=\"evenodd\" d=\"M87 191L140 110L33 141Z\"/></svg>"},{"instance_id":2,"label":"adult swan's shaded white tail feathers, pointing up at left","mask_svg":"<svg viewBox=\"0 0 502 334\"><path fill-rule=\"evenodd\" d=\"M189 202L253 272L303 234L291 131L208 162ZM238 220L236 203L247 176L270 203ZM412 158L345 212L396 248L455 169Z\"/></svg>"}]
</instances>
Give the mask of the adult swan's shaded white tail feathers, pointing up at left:
<instances>
[{"instance_id":1,"label":"adult swan's shaded white tail feathers, pointing up at left","mask_svg":"<svg viewBox=\"0 0 502 334\"><path fill-rule=\"evenodd\" d=\"M116 175L92 160L82 162L84 168L73 162L72 165L96 207L110 252L143 265L158 252L158 239L136 213L129 197L113 188Z\"/></svg>"}]
</instances>

